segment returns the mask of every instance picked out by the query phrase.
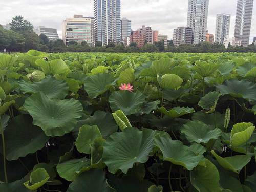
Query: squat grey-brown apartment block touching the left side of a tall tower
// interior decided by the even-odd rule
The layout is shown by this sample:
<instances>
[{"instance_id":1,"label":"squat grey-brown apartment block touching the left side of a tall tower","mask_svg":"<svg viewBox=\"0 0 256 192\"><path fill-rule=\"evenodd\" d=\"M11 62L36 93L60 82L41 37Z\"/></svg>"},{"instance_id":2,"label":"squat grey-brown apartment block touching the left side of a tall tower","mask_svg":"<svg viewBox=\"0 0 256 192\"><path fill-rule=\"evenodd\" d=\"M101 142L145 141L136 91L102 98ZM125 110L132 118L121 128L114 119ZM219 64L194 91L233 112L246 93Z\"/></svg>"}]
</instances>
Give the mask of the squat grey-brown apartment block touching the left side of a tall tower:
<instances>
[{"instance_id":1,"label":"squat grey-brown apartment block touching the left side of a tall tower","mask_svg":"<svg viewBox=\"0 0 256 192\"><path fill-rule=\"evenodd\" d=\"M190 27L178 27L174 29L173 42L175 46L192 44L193 30Z\"/></svg>"}]
</instances>

